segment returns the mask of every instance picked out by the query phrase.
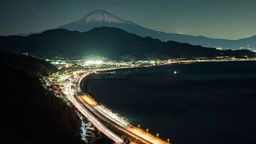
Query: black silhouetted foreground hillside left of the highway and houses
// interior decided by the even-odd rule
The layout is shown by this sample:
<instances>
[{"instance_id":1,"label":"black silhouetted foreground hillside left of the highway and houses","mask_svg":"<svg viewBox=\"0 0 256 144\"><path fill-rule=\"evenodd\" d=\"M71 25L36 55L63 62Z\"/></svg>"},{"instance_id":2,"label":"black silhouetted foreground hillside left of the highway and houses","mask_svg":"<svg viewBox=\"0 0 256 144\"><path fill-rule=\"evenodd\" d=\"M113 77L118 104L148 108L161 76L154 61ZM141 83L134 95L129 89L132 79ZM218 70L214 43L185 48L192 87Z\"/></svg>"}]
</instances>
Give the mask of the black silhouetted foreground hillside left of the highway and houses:
<instances>
[{"instance_id":1,"label":"black silhouetted foreground hillside left of the highway and houses","mask_svg":"<svg viewBox=\"0 0 256 144\"><path fill-rule=\"evenodd\" d=\"M47 92L38 76L56 68L36 58L0 52L1 144L84 144L73 108Z\"/></svg>"}]
</instances>

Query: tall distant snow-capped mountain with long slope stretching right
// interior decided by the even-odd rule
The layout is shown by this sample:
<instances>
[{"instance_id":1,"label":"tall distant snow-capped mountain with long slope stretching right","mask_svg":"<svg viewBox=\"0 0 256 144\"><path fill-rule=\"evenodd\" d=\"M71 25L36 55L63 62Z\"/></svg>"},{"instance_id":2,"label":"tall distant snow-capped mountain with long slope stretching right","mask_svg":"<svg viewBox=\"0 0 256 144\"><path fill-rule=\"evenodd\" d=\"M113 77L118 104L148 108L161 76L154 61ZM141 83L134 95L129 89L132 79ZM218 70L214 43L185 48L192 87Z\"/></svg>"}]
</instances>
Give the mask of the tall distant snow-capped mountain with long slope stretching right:
<instances>
[{"instance_id":1,"label":"tall distant snow-capped mountain with long slope stretching right","mask_svg":"<svg viewBox=\"0 0 256 144\"><path fill-rule=\"evenodd\" d=\"M168 40L181 42L181 43L189 43L193 45L201 45L204 47L212 47L212 48L222 48L226 49L248 49L248 50L256 50L256 36L252 36L250 38L243 38L240 40L225 40L225 39L214 39L207 38L205 36L190 36L186 34L174 34L174 33L166 33L160 32L156 30L151 30L148 28L144 28L135 24L131 21L122 20L117 16L106 12L105 10L94 10L90 14L87 14L83 18L71 22L70 24L66 24L64 26L60 26L58 28L65 28L67 30L78 30L79 32L86 32L91 30L92 28L107 26L107 27L115 27L121 28L127 32L136 34L138 36L150 36L151 38L158 38L164 42ZM41 32L29 33L29 34L39 34ZM28 36L29 34L20 34L21 36Z\"/></svg>"}]
</instances>

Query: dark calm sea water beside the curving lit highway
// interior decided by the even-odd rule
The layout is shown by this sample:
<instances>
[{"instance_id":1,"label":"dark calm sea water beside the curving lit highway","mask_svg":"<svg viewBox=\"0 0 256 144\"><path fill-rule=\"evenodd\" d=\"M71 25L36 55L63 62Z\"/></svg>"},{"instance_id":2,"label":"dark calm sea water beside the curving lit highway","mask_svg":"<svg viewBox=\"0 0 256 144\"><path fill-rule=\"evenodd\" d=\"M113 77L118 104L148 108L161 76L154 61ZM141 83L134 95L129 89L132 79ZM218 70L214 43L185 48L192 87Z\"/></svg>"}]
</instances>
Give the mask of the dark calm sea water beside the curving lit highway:
<instances>
[{"instance_id":1,"label":"dark calm sea water beside the curving lit highway","mask_svg":"<svg viewBox=\"0 0 256 144\"><path fill-rule=\"evenodd\" d=\"M256 143L255 61L169 64L110 77L129 71L128 80L89 80L90 94L172 144Z\"/></svg>"}]
</instances>

